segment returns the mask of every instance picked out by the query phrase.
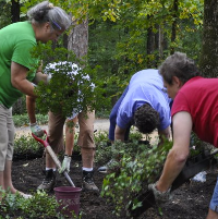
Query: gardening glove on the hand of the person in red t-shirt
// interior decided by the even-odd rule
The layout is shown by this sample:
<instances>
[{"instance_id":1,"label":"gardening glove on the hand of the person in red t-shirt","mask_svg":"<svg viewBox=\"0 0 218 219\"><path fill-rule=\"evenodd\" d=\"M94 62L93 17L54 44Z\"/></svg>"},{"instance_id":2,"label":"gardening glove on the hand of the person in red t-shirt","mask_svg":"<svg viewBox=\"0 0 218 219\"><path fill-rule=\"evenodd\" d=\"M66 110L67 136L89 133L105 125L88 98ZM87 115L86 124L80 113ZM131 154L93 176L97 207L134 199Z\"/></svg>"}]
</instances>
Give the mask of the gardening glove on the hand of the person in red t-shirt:
<instances>
[{"instance_id":1,"label":"gardening glove on the hand of the person in red t-shirt","mask_svg":"<svg viewBox=\"0 0 218 219\"><path fill-rule=\"evenodd\" d=\"M161 205L172 198L172 194L170 193L171 187L166 192L160 192L157 190L156 184L157 182L149 184L148 190L153 192L155 200L158 205Z\"/></svg>"}]
</instances>

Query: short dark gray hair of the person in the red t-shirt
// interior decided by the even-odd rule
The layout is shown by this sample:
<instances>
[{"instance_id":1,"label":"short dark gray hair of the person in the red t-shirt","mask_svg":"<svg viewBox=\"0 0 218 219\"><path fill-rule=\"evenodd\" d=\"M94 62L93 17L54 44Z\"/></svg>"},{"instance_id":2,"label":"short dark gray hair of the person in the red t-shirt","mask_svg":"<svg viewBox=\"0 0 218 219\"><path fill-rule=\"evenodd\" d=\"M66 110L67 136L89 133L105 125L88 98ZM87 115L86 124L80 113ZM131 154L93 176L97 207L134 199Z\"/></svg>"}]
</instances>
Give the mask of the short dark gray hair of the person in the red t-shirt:
<instances>
[{"instance_id":1,"label":"short dark gray hair of the person in the red t-shirt","mask_svg":"<svg viewBox=\"0 0 218 219\"><path fill-rule=\"evenodd\" d=\"M159 73L170 85L172 85L173 76L177 76L184 84L192 77L199 75L194 61L182 52L174 52L174 54L168 57L159 66Z\"/></svg>"}]
</instances>

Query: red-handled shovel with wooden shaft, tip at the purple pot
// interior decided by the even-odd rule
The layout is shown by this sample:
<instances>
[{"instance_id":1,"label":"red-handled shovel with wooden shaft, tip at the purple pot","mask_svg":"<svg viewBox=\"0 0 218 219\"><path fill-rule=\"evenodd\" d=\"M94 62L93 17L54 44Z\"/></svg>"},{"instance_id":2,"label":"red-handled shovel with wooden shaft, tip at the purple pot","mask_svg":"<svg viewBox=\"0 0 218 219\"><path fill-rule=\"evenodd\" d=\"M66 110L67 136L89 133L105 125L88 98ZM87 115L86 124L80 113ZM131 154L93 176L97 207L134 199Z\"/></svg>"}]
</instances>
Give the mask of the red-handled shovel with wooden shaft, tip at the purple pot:
<instances>
[{"instance_id":1,"label":"red-handled shovel with wooden shaft, tip at the purple pot","mask_svg":"<svg viewBox=\"0 0 218 219\"><path fill-rule=\"evenodd\" d=\"M61 168L61 162L60 162L60 160L58 159L57 155L53 153L51 146L50 146L49 143L48 143L48 135L47 135L47 132L46 132L45 130L44 130L44 132L45 132L45 134L46 134L46 139L45 139L45 141L41 139L40 137L37 137L37 136L36 136L35 134L33 134L33 133L32 133L32 135L33 135L33 137L34 137L37 142L39 142L40 144L43 144L43 145L46 147L46 150L48 151L48 154L49 154L49 155L51 156L51 158L53 159L56 166L58 167L58 169L60 169L60 168ZM62 174L65 177L65 179L68 180L69 184L70 184L71 186L75 187L75 185L74 185L73 181L71 180L70 175L68 174L68 172L64 171Z\"/></svg>"}]
</instances>

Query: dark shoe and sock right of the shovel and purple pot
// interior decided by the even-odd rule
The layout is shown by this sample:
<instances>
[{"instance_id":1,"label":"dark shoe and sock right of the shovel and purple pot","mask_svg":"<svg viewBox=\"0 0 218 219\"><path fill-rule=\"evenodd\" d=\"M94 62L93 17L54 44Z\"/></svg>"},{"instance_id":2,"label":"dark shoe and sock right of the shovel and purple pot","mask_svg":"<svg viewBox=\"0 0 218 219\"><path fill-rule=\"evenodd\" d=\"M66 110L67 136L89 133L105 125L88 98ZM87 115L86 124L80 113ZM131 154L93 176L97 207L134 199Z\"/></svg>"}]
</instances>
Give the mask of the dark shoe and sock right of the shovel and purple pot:
<instances>
[{"instance_id":1,"label":"dark shoe and sock right of the shovel and purple pot","mask_svg":"<svg viewBox=\"0 0 218 219\"><path fill-rule=\"evenodd\" d=\"M94 171L85 171L83 170L83 178L82 178L82 188L83 191L94 191L99 192L99 188L95 185L93 180Z\"/></svg>"}]
</instances>

